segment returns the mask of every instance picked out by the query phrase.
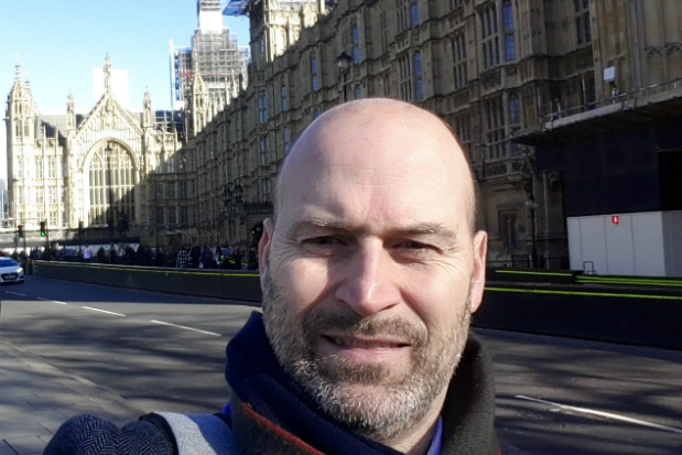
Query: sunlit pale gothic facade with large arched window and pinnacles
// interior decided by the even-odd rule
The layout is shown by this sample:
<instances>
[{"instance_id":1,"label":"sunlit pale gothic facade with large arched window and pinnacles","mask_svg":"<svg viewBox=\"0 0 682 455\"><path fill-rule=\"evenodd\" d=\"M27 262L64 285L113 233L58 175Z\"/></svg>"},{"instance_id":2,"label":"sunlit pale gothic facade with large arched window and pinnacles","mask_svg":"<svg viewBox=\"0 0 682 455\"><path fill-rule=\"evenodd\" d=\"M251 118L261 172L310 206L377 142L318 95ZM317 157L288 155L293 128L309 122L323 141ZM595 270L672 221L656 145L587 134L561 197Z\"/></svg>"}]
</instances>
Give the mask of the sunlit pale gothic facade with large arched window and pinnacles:
<instances>
[{"instance_id":1,"label":"sunlit pale gothic facade with large arched window and pinnacles","mask_svg":"<svg viewBox=\"0 0 682 455\"><path fill-rule=\"evenodd\" d=\"M155 128L149 93L144 112L126 111L111 96L110 62L105 94L86 116L74 111L42 116L31 87L17 79L8 97L9 218L35 230L46 221L55 237L64 231L118 226L145 231L153 225L151 177L175 156L175 133Z\"/></svg>"}]
</instances>

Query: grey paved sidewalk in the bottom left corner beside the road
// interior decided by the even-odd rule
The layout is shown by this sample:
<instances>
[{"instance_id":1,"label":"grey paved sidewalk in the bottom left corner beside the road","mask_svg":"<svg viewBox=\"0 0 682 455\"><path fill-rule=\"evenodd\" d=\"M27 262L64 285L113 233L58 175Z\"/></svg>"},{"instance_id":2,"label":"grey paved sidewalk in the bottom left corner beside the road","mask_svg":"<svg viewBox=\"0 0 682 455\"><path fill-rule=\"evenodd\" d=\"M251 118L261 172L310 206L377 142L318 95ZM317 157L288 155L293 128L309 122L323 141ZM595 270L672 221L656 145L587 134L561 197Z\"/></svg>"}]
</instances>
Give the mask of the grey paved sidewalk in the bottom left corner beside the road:
<instances>
[{"instance_id":1,"label":"grey paved sidewalk in the bottom left corner beside the road","mask_svg":"<svg viewBox=\"0 0 682 455\"><path fill-rule=\"evenodd\" d=\"M94 414L120 425L143 413L110 390L0 340L0 455L42 454L73 415Z\"/></svg>"}]
</instances>

